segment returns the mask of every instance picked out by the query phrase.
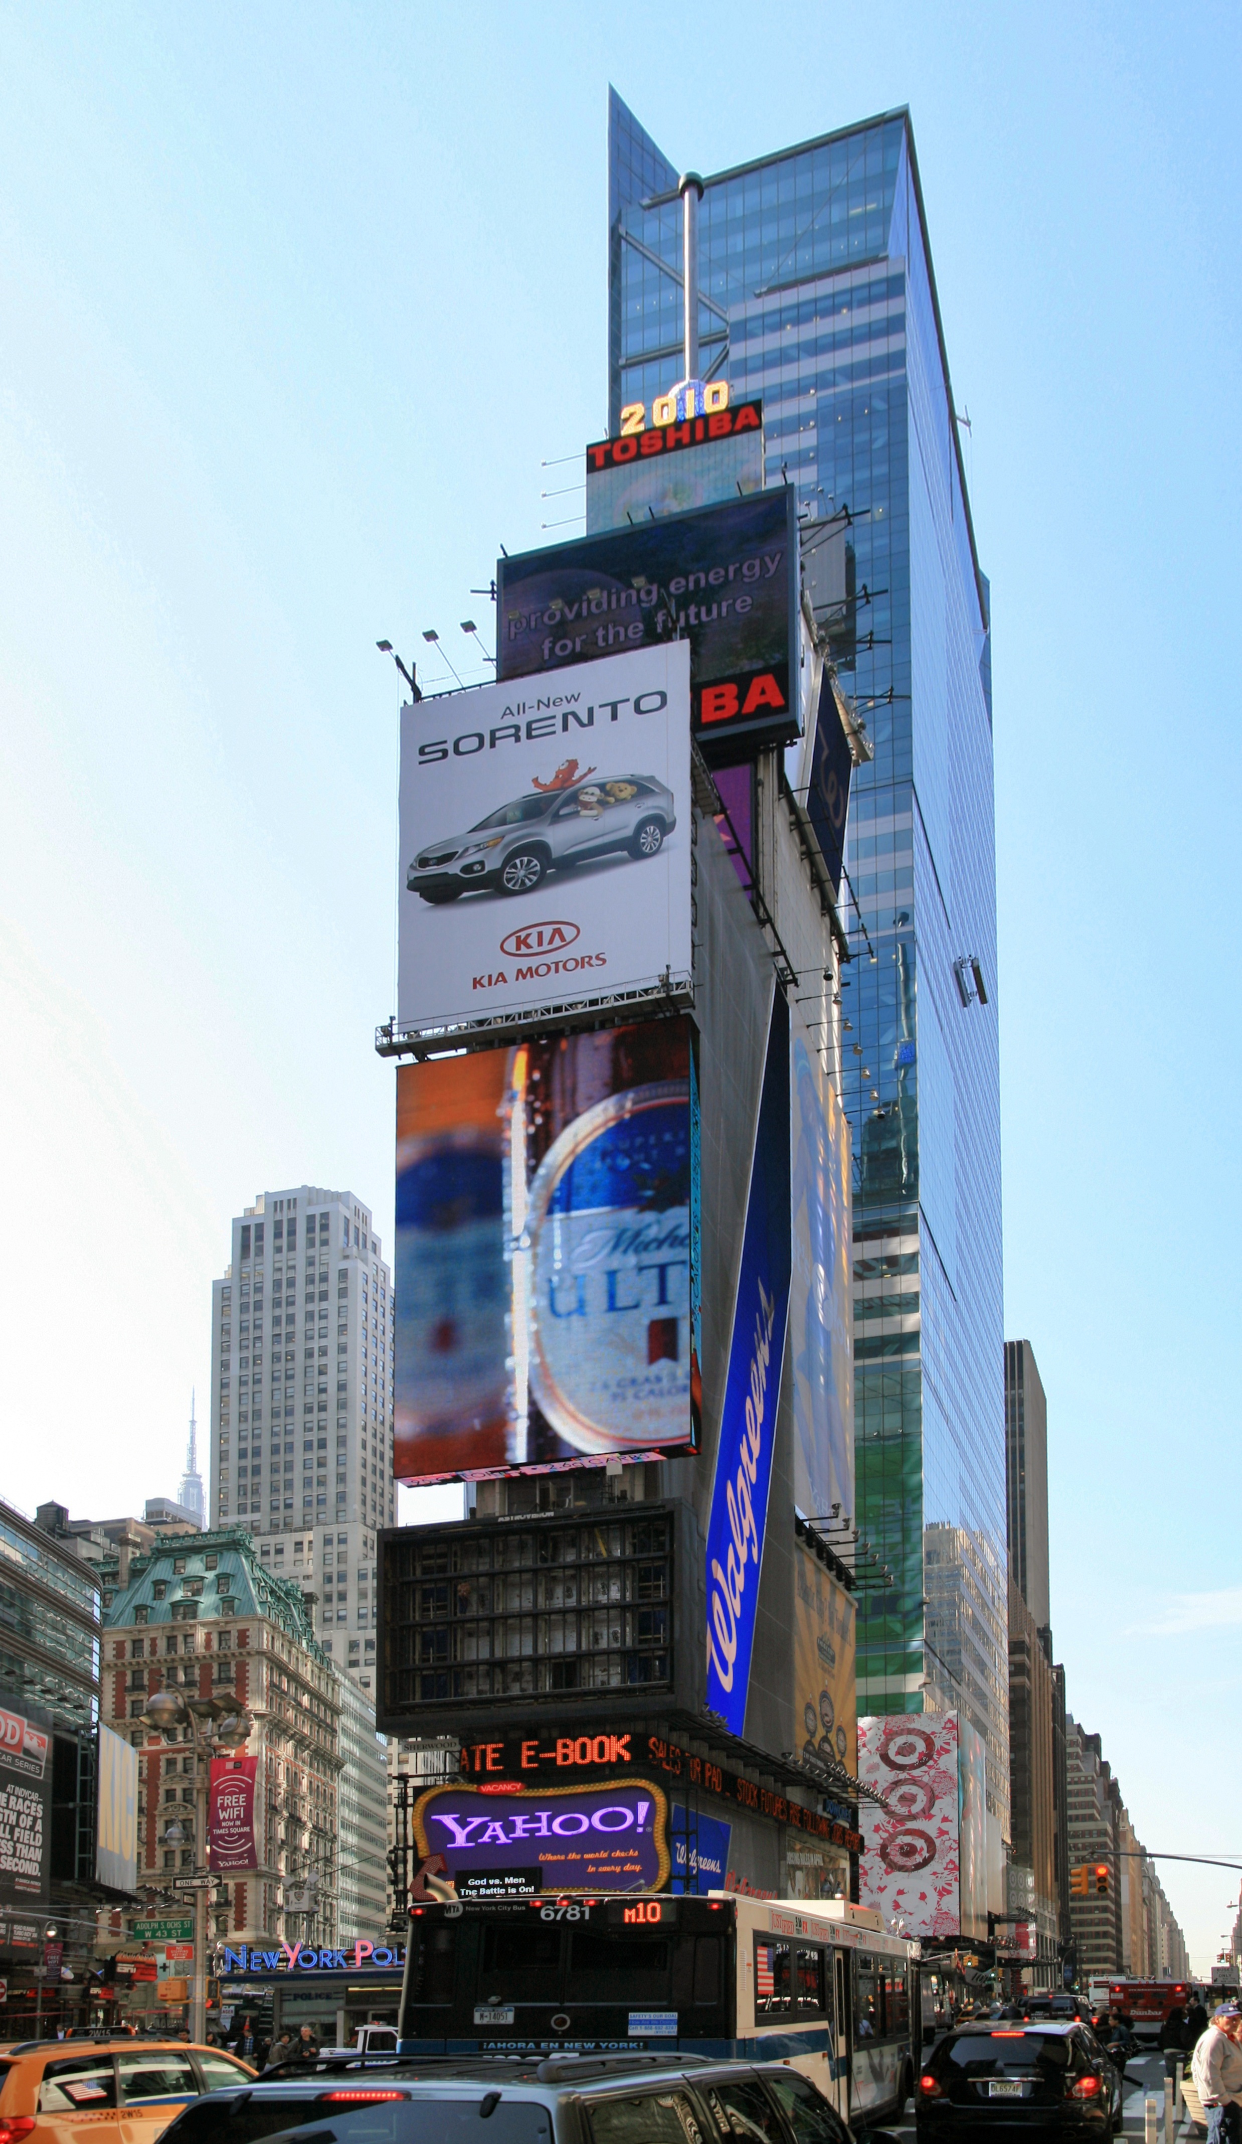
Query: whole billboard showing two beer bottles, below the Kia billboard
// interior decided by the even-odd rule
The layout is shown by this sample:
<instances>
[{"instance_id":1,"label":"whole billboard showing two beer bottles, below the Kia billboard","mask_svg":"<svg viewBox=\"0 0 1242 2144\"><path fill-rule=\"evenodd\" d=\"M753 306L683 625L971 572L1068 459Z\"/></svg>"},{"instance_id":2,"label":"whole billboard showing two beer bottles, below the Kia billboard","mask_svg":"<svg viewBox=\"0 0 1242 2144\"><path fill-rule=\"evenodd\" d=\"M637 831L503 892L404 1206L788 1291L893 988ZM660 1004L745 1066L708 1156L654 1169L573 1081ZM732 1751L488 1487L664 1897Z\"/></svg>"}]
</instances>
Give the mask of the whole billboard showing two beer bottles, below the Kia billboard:
<instances>
[{"instance_id":1,"label":"whole billboard showing two beer bottles, below the Kia billboard","mask_svg":"<svg viewBox=\"0 0 1242 2144\"><path fill-rule=\"evenodd\" d=\"M683 1016L403 1066L396 1479L694 1449L696 1181Z\"/></svg>"}]
</instances>

